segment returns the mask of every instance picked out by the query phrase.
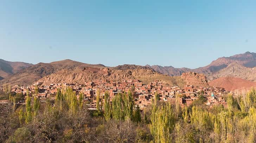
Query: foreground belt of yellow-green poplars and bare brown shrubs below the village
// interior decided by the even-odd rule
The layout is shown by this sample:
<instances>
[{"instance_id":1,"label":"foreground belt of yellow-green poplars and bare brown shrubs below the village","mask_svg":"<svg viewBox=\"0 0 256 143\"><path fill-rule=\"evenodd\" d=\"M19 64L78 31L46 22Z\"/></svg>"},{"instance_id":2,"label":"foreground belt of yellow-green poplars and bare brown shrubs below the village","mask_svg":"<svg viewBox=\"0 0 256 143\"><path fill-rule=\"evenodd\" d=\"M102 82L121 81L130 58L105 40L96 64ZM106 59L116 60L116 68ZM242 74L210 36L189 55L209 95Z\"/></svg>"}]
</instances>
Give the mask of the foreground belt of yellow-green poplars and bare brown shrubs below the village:
<instances>
[{"instance_id":1,"label":"foreground belt of yellow-green poplars and bare brown shrubs below the village","mask_svg":"<svg viewBox=\"0 0 256 143\"><path fill-rule=\"evenodd\" d=\"M56 100L38 102L26 94L26 106L0 106L0 142L6 143L255 143L256 91L226 96L227 108L205 108L203 98L181 108L160 101L141 112L132 92L102 94L100 112L90 114L71 88L57 91ZM16 95L12 95L14 98ZM24 97L22 97L24 98ZM33 101L33 105L31 104ZM33 107L33 108L32 108ZM97 112L95 110L94 112ZM178 113L177 113L178 112ZM90 116L91 115L91 116Z\"/></svg>"}]
</instances>

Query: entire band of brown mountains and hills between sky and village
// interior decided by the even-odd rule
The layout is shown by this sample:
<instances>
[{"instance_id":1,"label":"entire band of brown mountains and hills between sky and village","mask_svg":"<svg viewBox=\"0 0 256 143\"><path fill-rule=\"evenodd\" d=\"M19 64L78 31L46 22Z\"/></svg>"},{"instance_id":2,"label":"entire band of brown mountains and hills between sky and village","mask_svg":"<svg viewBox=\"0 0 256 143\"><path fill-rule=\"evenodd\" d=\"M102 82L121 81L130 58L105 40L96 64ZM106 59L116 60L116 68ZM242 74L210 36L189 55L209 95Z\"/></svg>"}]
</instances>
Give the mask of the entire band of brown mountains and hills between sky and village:
<instances>
[{"instance_id":1,"label":"entire band of brown mountains and hills between sky and village","mask_svg":"<svg viewBox=\"0 0 256 143\"><path fill-rule=\"evenodd\" d=\"M95 79L139 79L144 83L162 80L169 86L223 86L229 90L239 86L254 86L256 81L256 53L245 52L231 57L221 57L205 67L197 69L174 68L159 65L119 65L106 67L102 64L85 64L73 60L61 60L36 65L8 62L0 59L0 85L31 85L35 82L84 83ZM225 77L225 78L223 78ZM235 78L231 78L235 77ZM239 80L238 80L239 79ZM211 81L211 84L208 84ZM237 83L241 81L243 85ZM246 83L248 82L248 83Z\"/></svg>"}]
</instances>

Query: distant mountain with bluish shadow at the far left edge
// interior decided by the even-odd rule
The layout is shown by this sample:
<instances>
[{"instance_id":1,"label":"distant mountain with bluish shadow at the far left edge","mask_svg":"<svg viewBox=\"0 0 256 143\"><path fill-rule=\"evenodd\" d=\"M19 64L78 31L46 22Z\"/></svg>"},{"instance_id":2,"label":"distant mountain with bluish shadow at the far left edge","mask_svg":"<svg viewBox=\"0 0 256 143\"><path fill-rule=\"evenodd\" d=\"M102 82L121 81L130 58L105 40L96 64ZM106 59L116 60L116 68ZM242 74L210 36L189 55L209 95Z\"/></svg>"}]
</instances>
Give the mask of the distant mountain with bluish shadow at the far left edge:
<instances>
[{"instance_id":1,"label":"distant mountain with bluish shadow at the far left edge","mask_svg":"<svg viewBox=\"0 0 256 143\"><path fill-rule=\"evenodd\" d=\"M32 65L33 64L28 64L24 62L9 62L9 61L0 59L0 80L8 76L11 76L17 73L18 71L23 70Z\"/></svg>"}]
</instances>

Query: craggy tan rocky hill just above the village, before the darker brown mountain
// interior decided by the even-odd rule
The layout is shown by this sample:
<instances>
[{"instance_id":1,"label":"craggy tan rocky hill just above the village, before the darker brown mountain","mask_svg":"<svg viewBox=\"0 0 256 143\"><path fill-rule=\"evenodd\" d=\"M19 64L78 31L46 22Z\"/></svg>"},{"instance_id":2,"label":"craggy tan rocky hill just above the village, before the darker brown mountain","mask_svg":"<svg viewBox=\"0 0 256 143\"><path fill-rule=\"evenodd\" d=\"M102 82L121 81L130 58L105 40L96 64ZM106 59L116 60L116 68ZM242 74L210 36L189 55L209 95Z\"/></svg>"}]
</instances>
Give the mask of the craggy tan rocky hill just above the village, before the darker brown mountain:
<instances>
[{"instance_id":1,"label":"craggy tan rocky hill just above the village, before the darker brown mountain","mask_svg":"<svg viewBox=\"0 0 256 143\"><path fill-rule=\"evenodd\" d=\"M123 79L138 79L143 76L153 76L158 74L152 69L145 66L136 65L122 65L117 67L83 67L75 66L65 69L61 69L55 73L52 73L44 78L38 80L44 84L51 83L84 83L91 80L113 80L121 81Z\"/></svg>"}]
</instances>

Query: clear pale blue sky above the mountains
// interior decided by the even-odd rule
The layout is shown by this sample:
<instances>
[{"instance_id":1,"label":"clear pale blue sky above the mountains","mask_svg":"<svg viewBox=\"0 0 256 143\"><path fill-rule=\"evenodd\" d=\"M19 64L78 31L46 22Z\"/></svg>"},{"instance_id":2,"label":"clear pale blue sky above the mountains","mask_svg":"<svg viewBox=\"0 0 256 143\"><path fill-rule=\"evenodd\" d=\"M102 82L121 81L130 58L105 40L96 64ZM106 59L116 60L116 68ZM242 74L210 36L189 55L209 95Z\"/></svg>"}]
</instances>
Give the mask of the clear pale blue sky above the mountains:
<instances>
[{"instance_id":1,"label":"clear pale blue sky above the mountains","mask_svg":"<svg viewBox=\"0 0 256 143\"><path fill-rule=\"evenodd\" d=\"M256 1L1 0L0 58L196 68L256 52Z\"/></svg>"}]
</instances>

